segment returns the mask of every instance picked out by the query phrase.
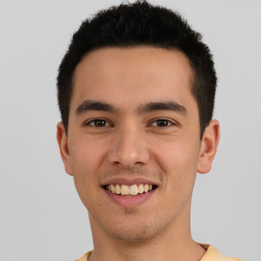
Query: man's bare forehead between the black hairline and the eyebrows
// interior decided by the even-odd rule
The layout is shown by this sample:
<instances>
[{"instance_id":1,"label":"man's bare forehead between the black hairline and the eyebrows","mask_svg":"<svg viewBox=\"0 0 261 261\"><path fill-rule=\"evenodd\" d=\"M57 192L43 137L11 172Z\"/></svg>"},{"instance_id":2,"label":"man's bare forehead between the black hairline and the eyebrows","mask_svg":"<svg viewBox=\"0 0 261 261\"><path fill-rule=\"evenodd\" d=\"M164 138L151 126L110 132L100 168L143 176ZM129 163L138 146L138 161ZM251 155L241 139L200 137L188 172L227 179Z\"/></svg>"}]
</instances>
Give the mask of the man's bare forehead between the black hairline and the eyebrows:
<instances>
[{"instance_id":1,"label":"man's bare forehead between the black hairline and the eyebrows","mask_svg":"<svg viewBox=\"0 0 261 261\"><path fill-rule=\"evenodd\" d=\"M192 98L188 58L177 49L102 48L91 51L74 73L71 108L86 99L132 107L144 101Z\"/></svg>"}]
</instances>

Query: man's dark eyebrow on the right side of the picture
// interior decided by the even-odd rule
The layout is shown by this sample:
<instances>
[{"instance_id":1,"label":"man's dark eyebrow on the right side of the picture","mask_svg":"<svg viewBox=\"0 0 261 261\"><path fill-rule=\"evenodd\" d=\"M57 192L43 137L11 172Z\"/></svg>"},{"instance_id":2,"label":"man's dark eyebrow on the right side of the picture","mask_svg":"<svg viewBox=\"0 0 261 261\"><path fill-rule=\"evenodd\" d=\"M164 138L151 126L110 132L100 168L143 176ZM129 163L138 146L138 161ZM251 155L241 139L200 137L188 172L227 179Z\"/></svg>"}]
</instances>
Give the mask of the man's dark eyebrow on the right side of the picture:
<instances>
[{"instance_id":1,"label":"man's dark eyebrow on the right side of the picture","mask_svg":"<svg viewBox=\"0 0 261 261\"><path fill-rule=\"evenodd\" d=\"M150 102L139 106L137 109L138 114L145 114L154 111L173 111L184 116L188 115L187 109L175 101Z\"/></svg>"}]
</instances>

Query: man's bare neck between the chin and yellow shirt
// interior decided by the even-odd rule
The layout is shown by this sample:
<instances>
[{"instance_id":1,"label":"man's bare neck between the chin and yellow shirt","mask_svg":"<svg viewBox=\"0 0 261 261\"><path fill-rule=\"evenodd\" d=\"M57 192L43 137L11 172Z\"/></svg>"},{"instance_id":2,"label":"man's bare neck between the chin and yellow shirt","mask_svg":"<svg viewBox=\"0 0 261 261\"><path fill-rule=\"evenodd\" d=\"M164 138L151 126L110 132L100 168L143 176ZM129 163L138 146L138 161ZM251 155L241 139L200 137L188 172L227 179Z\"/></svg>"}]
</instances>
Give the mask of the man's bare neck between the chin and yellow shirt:
<instances>
[{"instance_id":1,"label":"man's bare neck between the chin and yellow shirt","mask_svg":"<svg viewBox=\"0 0 261 261\"><path fill-rule=\"evenodd\" d=\"M138 242L111 237L90 217L94 250L88 261L199 261L206 250L191 237L190 207L184 214L154 238Z\"/></svg>"}]
</instances>

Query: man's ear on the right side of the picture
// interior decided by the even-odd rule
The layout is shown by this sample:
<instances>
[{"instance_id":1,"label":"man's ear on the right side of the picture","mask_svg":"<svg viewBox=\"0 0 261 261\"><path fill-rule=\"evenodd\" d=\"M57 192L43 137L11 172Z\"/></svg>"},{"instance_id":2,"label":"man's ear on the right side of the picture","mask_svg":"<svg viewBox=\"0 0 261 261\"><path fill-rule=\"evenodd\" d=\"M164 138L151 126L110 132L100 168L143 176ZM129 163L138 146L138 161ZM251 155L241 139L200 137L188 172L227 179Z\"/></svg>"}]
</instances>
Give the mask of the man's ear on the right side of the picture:
<instances>
[{"instance_id":1,"label":"man's ear on the right side of the picture","mask_svg":"<svg viewBox=\"0 0 261 261\"><path fill-rule=\"evenodd\" d=\"M207 173L211 170L220 138L219 122L212 120L205 128L199 152L197 172Z\"/></svg>"}]
</instances>

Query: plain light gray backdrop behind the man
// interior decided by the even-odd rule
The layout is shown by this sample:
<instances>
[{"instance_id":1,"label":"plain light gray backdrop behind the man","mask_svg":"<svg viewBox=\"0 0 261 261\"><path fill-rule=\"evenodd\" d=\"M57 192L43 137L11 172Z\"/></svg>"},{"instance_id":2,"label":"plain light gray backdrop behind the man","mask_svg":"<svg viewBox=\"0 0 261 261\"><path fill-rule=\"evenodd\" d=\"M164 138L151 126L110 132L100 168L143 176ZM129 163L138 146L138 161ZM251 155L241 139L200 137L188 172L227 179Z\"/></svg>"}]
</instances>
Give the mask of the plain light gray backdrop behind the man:
<instances>
[{"instance_id":1,"label":"plain light gray backdrop behind the man","mask_svg":"<svg viewBox=\"0 0 261 261\"><path fill-rule=\"evenodd\" d=\"M261 260L261 2L151 1L204 34L219 76L221 141L198 174L192 234ZM92 249L87 211L56 142L55 78L81 20L120 1L0 1L0 261L73 260Z\"/></svg>"}]
</instances>

